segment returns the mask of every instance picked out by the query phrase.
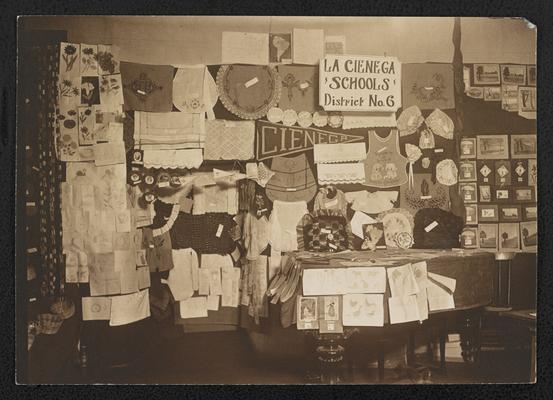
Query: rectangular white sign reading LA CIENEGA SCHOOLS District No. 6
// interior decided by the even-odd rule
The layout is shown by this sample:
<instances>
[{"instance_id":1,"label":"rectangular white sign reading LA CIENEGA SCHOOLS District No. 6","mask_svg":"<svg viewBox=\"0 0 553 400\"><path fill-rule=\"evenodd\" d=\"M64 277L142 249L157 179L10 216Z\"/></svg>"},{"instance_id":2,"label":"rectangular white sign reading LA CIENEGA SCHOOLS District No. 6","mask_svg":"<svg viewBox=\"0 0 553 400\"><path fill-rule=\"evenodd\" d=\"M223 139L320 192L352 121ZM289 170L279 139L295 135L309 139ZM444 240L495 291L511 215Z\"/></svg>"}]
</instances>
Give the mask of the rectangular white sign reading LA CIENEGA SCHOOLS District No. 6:
<instances>
[{"instance_id":1,"label":"rectangular white sign reading LA CIENEGA SCHOOLS District No. 6","mask_svg":"<svg viewBox=\"0 0 553 400\"><path fill-rule=\"evenodd\" d=\"M319 105L326 111L397 111L401 63L395 57L327 55L319 64Z\"/></svg>"}]
</instances>

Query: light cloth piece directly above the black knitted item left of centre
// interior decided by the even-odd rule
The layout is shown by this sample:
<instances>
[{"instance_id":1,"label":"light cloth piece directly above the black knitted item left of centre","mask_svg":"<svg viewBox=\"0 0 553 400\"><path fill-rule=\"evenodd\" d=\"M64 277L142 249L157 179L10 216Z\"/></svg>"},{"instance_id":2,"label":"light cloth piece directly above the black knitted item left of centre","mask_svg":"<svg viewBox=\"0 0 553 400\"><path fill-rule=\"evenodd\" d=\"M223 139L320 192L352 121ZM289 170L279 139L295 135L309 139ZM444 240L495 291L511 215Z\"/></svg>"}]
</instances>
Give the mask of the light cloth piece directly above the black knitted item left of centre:
<instances>
[{"instance_id":1,"label":"light cloth piece directly above the black knitted item left of centre","mask_svg":"<svg viewBox=\"0 0 553 400\"><path fill-rule=\"evenodd\" d=\"M200 172L194 174L197 178L194 181L194 205L192 214L199 215L205 213L228 213L238 214L238 189L236 182L231 179L215 183L212 174L209 172ZM201 182L207 183L200 186Z\"/></svg>"}]
</instances>

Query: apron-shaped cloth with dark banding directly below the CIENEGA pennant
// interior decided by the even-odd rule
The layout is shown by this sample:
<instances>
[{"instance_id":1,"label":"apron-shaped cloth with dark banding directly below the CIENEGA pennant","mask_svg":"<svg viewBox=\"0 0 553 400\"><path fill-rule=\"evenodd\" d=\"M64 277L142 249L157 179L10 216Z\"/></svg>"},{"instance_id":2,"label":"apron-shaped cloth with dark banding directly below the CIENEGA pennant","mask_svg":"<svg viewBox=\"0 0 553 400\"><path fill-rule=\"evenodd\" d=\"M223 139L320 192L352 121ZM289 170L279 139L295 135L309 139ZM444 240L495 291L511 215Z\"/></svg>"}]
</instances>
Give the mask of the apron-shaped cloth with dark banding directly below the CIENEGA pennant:
<instances>
[{"instance_id":1,"label":"apron-shaped cloth with dark banding directly below the CIENEGA pennant","mask_svg":"<svg viewBox=\"0 0 553 400\"><path fill-rule=\"evenodd\" d=\"M276 157L271 164L275 175L266 187L267 197L280 201L310 201L317 193L317 183L305 154Z\"/></svg>"}]
</instances>

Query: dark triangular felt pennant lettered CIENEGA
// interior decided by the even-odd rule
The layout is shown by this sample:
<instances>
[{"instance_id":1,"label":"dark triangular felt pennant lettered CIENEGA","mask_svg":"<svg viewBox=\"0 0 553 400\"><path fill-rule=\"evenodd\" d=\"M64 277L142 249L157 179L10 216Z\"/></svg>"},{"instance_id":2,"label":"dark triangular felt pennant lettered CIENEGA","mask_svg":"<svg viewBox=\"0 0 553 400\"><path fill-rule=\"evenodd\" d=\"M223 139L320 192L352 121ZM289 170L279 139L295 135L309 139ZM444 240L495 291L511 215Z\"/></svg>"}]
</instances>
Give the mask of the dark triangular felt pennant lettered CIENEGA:
<instances>
[{"instance_id":1,"label":"dark triangular felt pennant lettered CIENEGA","mask_svg":"<svg viewBox=\"0 0 553 400\"><path fill-rule=\"evenodd\" d=\"M366 133L358 135L273 124L263 120L255 121L256 159L266 160L277 156L297 154L313 149L320 143L364 142Z\"/></svg>"}]
</instances>

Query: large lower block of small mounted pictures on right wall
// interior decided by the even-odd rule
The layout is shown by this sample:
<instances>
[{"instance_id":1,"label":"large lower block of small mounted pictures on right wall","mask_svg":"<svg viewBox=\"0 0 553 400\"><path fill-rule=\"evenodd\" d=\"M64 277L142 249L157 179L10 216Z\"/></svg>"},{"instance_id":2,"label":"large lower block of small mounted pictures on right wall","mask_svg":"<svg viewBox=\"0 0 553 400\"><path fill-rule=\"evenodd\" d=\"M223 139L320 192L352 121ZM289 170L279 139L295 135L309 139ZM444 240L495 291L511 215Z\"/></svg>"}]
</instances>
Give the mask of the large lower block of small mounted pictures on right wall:
<instances>
[{"instance_id":1,"label":"large lower block of small mounted pictures on right wall","mask_svg":"<svg viewBox=\"0 0 553 400\"><path fill-rule=\"evenodd\" d=\"M537 248L536 135L477 135L460 141L463 247Z\"/></svg>"}]
</instances>

